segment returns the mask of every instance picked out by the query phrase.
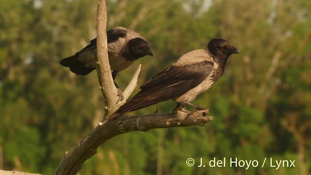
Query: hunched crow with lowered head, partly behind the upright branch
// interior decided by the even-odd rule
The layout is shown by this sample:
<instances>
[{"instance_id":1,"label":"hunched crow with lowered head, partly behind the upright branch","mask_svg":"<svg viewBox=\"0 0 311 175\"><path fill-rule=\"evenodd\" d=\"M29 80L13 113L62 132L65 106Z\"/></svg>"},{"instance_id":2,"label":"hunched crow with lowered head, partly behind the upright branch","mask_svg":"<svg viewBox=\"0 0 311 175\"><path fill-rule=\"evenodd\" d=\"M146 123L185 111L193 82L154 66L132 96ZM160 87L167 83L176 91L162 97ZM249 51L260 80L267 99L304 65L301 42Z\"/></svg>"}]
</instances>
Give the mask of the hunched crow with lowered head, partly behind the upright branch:
<instances>
[{"instance_id":1,"label":"hunched crow with lowered head, partly behind the upright branch","mask_svg":"<svg viewBox=\"0 0 311 175\"><path fill-rule=\"evenodd\" d=\"M124 27L107 31L108 57L113 80L117 74L128 68L134 61L145 55L153 56L147 41L138 33ZM96 38L80 52L62 59L59 63L77 75L87 75L96 69ZM117 86L117 84L115 83ZM119 100L122 100L120 88Z\"/></svg>"}]
</instances>

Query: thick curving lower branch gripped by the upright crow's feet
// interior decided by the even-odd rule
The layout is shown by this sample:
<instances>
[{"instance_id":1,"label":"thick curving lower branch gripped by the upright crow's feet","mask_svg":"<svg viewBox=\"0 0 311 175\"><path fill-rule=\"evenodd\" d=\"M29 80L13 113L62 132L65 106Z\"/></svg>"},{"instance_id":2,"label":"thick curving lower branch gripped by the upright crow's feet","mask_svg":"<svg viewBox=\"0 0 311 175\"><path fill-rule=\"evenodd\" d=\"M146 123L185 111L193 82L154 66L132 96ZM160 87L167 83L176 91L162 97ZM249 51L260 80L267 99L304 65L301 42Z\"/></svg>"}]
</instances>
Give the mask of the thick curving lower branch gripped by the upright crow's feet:
<instances>
[{"instance_id":1,"label":"thick curving lower branch gripped by the upright crow's feet","mask_svg":"<svg viewBox=\"0 0 311 175\"><path fill-rule=\"evenodd\" d=\"M66 153L55 171L55 175L75 175L83 163L97 152L97 148L105 141L131 131L148 131L155 128L171 128L184 126L204 126L213 117L207 116L208 109L188 111L183 107L175 113L150 114L144 116L126 116L115 121L104 121L94 128L73 149Z\"/></svg>"}]
</instances>

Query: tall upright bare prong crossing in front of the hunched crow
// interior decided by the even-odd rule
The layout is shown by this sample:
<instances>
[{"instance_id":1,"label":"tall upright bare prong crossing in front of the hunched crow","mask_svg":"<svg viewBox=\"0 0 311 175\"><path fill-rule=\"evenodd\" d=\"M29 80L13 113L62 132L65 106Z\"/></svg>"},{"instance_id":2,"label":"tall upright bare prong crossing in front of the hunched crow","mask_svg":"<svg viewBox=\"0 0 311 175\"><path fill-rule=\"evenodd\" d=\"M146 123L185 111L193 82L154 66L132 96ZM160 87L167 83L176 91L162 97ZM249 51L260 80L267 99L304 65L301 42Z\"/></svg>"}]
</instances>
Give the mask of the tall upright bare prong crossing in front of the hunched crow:
<instances>
[{"instance_id":1,"label":"tall upright bare prong crossing in front of the hunched crow","mask_svg":"<svg viewBox=\"0 0 311 175\"><path fill-rule=\"evenodd\" d=\"M105 117L112 114L120 107L118 102L117 88L114 85L110 72L107 46L107 10L106 1L100 0L97 6L97 57L96 70L99 79L100 89L105 100Z\"/></svg>"}]
</instances>

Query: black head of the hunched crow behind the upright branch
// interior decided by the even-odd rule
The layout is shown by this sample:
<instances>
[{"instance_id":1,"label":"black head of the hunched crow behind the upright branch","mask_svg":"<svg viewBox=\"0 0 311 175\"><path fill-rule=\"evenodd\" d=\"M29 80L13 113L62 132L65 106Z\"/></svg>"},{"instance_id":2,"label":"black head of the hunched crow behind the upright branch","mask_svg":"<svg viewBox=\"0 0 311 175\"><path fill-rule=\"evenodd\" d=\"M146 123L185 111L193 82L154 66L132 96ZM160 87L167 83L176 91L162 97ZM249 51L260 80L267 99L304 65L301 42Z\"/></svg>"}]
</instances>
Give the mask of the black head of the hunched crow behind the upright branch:
<instances>
[{"instance_id":1,"label":"black head of the hunched crow behind the upright branch","mask_svg":"<svg viewBox=\"0 0 311 175\"><path fill-rule=\"evenodd\" d=\"M138 59L146 55L154 56L154 54L151 52L149 48L148 43L139 37L131 39L128 42L128 47L130 56L135 59Z\"/></svg>"}]
</instances>

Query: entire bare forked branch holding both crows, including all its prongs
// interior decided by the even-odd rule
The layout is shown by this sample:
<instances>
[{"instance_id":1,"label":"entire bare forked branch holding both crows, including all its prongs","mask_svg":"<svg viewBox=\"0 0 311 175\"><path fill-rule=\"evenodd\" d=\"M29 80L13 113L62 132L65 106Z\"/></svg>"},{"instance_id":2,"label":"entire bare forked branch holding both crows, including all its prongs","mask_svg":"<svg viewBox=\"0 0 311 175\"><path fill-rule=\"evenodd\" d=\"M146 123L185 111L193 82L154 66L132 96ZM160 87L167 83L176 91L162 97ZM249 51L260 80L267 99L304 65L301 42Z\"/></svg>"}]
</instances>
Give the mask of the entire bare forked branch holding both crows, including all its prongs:
<instances>
[{"instance_id":1,"label":"entire bare forked branch holding both crows, including all its prongs","mask_svg":"<svg viewBox=\"0 0 311 175\"><path fill-rule=\"evenodd\" d=\"M126 99L133 92L137 84L137 77L140 71L140 65L134 77L124 90L125 99L118 102L117 89L114 86L110 72L107 37L102 31L106 25L106 6L105 0L98 3L98 26L97 26L97 73L99 76L100 89L105 98L105 116L109 116L123 105ZM78 145L66 153L64 159L57 167L54 175L75 175L82 168L83 163L96 154L97 148L105 141L131 131L148 131L154 128L169 128L183 126L204 126L211 122L213 117L207 116L208 109L199 111L188 111L181 105L175 109L175 113L150 114L144 116L126 116L115 121L105 121L94 128Z\"/></svg>"}]
</instances>

